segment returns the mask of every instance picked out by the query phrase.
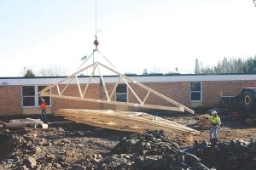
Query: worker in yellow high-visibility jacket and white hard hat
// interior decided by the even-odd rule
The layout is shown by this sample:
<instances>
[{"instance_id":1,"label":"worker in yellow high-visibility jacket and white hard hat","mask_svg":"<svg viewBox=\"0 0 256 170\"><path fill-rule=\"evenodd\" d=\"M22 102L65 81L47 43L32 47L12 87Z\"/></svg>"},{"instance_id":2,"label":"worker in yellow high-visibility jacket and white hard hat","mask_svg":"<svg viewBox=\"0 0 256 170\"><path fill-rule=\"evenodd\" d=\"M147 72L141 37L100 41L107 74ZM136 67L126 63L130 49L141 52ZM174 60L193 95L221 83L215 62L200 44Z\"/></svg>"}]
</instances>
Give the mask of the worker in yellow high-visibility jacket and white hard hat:
<instances>
[{"instance_id":1,"label":"worker in yellow high-visibility jacket and white hard hat","mask_svg":"<svg viewBox=\"0 0 256 170\"><path fill-rule=\"evenodd\" d=\"M209 116L208 119L211 122L209 132L211 145L215 146L215 144L217 144L218 141L218 127L221 125L221 121L217 114L217 111L212 111L212 115Z\"/></svg>"}]
</instances>

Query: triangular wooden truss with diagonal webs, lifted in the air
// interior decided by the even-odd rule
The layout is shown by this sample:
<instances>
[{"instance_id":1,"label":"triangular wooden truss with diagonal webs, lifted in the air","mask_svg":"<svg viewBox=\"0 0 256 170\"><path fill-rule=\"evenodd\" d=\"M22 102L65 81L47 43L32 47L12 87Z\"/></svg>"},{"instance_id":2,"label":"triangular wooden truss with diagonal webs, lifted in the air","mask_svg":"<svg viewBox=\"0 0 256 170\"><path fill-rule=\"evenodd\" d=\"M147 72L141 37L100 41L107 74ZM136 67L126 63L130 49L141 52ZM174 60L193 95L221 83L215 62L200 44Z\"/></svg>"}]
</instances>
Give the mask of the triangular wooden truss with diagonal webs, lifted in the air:
<instances>
[{"instance_id":1,"label":"triangular wooden truss with diagonal webs, lifted in the air","mask_svg":"<svg viewBox=\"0 0 256 170\"><path fill-rule=\"evenodd\" d=\"M90 101L90 102L97 102L97 103L112 104L112 105L126 105L126 106L142 107L142 108L149 108L149 109L160 109L160 110L168 110L168 111L189 111L190 113L194 113L193 110L189 109L188 107L186 107L186 106L184 106L182 104L177 103L175 100L173 100L173 99L171 99L171 98L169 98L169 97L167 97L167 96L165 96L163 94L160 94L160 93L156 92L155 90L153 90L151 88L148 88L147 86L143 85L142 83L136 82L136 81L132 80L130 77L126 77L125 75L119 73L119 71L114 71L113 69L109 68L108 66L102 65L101 63L99 63L97 61L95 63L93 63L92 65L88 65L84 69L81 69L80 71L84 71L85 69L88 69L91 66L94 66L94 71L95 71L96 67L98 67L99 74L100 74L100 77L101 77L101 80L102 80L102 84L103 84L103 88L104 88L105 94L107 95L108 100L105 100L105 99L89 99L89 98L85 98L84 97L84 95L86 93L86 90L87 90L87 88L89 86L89 83L90 83L90 80L91 80L92 76L90 77L90 80L87 83L87 85L86 85L86 87L84 89L84 93L82 95L81 95L81 89L79 88L80 97L78 97L78 96L65 96L65 95L62 95L64 93L64 91L66 90L66 88L67 88L67 86L69 85L70 82L68 82L66 87L64 89L62 89L61 95L60 94L57 95L57 94L48 94L48 93L46 93L48 89L57 86L61 82L67 81L68 78L72 80L73 77L76 77L77 74L80 73L79 71L73 73L73 75L67 77L64 80L61 80L61 82L55 83L55 85L51 85L51 86L49 86L47 88L44 88L38 94L45 95L45 96L50 96L50 97L61 98L61 99L75 99L75 100L83 100L83 101ZM113 92L114 91L112 91L110 96L108 95L108 89L106 88L106 84L105 84L104 79L102 77L102 74L101 74L101 71L99 69L99 66L102 66L102 67L108 69L109 71L113 71L113 73L118 74L119 77L123 78L123 80L125 81L126 85L131 90L131 93L135 95L135 97L137 98L139 103L130 103L130 102L126 102L125 103L125 102L111 101L111 97L113 96ZM132 82L132 83L136 84L138 87L143 88L144 90L148 91L148 94L145 96L143 101L136 94L136 92L131 88L131 86L129 84L130 82ZM78 83L78 86L79 86L79 81L78 80L77 80L77 83ZM116 88L117 85L118 85L118 83L115 85L115 88ZM58 86L57 86L57 88L58 88ZM148 105L148 104L145 104L146 100L148 99L148 95L149 94L154 94L155 96L158 96L160 99L164 99L164 100L170 102L170 105L175 105L175 107L165 106L165 105Z\"/></svg>"}]
</instances>

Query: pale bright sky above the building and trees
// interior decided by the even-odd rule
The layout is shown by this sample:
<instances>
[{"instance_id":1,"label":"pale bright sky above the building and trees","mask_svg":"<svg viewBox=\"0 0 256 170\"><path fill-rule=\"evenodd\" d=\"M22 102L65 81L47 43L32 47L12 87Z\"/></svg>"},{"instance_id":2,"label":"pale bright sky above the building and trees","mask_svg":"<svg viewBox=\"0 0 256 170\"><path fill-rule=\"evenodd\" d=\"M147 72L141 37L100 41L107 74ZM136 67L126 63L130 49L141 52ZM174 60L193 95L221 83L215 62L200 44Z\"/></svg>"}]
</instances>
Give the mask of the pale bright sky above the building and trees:
<instances>
[{"instance_id":1,"label":"pale bright sky above the building and trees","mask_svg":"<svg viewBox=\"0 0 256 170\"><path fill-rule=\"evenodd\" d=\"M252 0L0 0L0 77L56 65L76 71L99 49L123 73L193 73L256 54ZM97 28L96 28L97 27ZM101 57L96 56L101 61Z\"/></svg>"}]
</instances>

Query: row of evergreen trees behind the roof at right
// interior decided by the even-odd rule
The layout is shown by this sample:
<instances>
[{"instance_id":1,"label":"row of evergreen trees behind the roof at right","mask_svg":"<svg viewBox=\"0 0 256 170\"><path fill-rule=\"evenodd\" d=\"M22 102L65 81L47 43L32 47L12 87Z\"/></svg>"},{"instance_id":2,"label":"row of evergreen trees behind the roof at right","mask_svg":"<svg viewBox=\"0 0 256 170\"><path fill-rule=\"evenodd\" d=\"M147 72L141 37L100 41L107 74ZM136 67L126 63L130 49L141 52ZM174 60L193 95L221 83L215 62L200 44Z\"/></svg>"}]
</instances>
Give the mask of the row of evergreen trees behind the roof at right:
<instances>
[{"instance_id":1,"label":"row of evergreen trees behind the roof at right","mask_svg":"<svg viewBox=\"0 0 256 170\"><path fill-rule=\"evenodd\" d=\"M203 65L195 59L195 74L253 74L256 73L256 54L247 59L224 57L217 65Z\"/></svg>"}]
</instances>

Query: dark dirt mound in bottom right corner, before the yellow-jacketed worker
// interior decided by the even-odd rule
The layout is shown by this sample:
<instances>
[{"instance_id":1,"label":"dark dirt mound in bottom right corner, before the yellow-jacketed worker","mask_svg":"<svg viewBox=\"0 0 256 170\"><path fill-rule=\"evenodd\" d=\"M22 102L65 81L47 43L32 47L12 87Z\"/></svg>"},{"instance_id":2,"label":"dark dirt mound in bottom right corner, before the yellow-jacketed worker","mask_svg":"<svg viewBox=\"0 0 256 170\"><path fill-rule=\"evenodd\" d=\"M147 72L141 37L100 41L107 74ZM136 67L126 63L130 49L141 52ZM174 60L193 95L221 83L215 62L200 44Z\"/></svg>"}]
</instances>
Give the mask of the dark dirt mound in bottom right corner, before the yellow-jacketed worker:
<instances>
[{"instance_id":1,"label":"dark dirt mound in bottom right corner, before the yellow-jacketed worker","mask_svg":"<svg viewBox=\"0 0 256 170\"><path fill-rule=\"evenodd\" d=\"M207 142L187 150L217 169L256 169L256 141L234 139L211 147Z\"/></svg>"}]
</instances>

